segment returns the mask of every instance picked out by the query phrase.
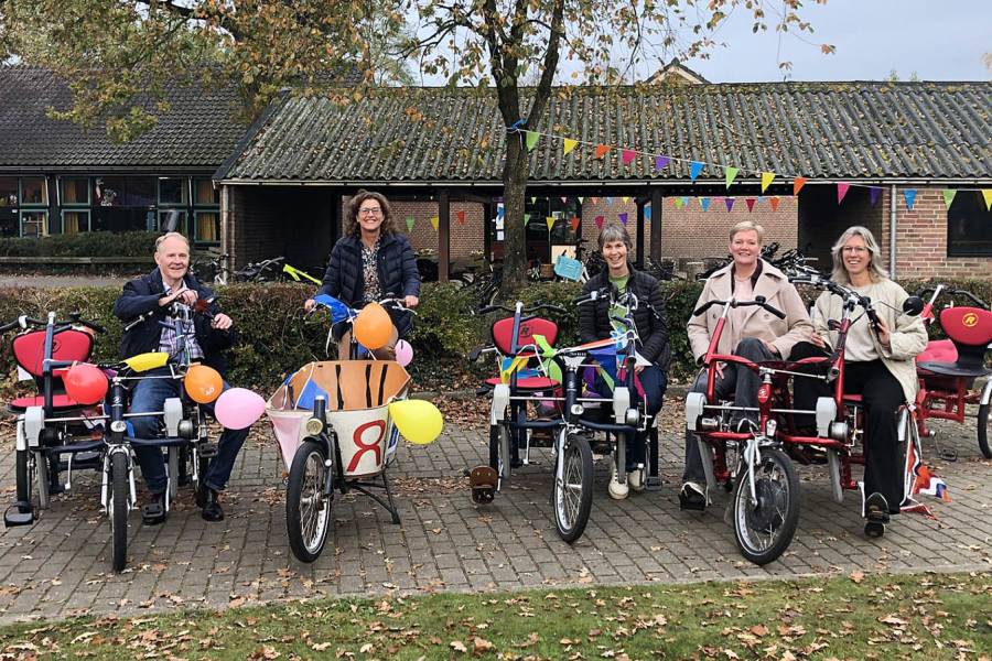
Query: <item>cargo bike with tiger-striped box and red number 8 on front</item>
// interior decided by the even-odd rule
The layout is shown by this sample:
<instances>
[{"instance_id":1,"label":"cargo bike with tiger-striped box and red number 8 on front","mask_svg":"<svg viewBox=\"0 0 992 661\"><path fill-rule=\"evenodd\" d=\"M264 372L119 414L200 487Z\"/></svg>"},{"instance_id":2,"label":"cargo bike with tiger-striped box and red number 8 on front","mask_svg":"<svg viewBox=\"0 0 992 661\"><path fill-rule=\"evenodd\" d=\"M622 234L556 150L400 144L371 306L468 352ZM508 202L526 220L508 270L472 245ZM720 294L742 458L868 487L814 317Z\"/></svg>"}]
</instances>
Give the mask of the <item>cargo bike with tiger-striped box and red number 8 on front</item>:
<instances>
[{"instance_id":1,"label":"cargo bike with tiger-striped box and red number 8 on front","mask_svg":"<svg viewBox=\"0 0 992 661\"><path fill-rule=\"evenodd\" d=\"M406 399L410 376L402 365L359 358L363 324L373 325L368 318L377 316L391 328L381 306L356 311L332 296L314 300L317 307L331 312L334 323L353 324L349 355L355 359L304 365L283 381L266 407L288 476L290 548L308 563L320 557L326 544L335 491L364 494L389 512L392 523L400 522L388 478L399 435L427 444L443 426L433 404ZM375 342L364 344L378 348Z\"/></svg>"}]
</instances>

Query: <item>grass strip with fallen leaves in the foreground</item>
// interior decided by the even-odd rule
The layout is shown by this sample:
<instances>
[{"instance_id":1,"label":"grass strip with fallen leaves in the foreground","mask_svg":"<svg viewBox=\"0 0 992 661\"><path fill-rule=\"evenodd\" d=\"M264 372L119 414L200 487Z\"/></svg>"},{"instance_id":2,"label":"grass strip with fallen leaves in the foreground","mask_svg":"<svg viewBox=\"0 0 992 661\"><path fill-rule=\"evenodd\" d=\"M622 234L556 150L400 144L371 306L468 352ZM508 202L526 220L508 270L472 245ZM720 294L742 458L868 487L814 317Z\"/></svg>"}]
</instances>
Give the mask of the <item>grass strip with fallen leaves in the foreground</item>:
<instances>
[{"instance_id":1,"label":"grass strip with fallen leaves in the foreground","mask_svg":"<svg viewBox=\"0 0 992 661\"><path fill-rule=\"evenodd\" d=\"M321 599L0 629L0 658L989 659L992 574Z\"/></svg>"}]
</instances>

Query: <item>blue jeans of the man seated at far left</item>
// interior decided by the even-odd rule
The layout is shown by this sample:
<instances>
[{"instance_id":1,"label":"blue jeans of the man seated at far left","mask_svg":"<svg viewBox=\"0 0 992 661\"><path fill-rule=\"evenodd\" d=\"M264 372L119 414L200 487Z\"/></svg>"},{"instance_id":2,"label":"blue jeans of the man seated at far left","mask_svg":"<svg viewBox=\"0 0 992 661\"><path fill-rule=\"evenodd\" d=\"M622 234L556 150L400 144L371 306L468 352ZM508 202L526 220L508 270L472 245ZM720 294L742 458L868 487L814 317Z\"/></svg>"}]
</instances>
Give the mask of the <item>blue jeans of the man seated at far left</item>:
<instances>
[{"instance_id":1,"label":"blue jeans of the man seated at far left","mask_svg":"<svg viewBox=\"0 0 992 661\"><path fill-rule=\"evenodd\" d=\"M169 370L154 370L148 376L164 376L170 373ZM141 379L134 386L131 392L131 413L143 413L145 411L161 411L164 402L170 397L179 397L179 381L176 379ZM225 381L224 390L228 386ZM214 404L203 404L203 409L212 415L214 413ZM150 415L147 418L128 419L134 427L136 438L160 438L164 434L162 427L161 415ZM250 427L249 427L250 429ZM223 491L230 478L230 472L234 469L234 463L238 458L238 452L248 437L248 429L244 430L224 430L220 440L217 442L217 456L211 462L211 467L203 476L203 483L215 491ZM134 455L138 457L138 465L141 466L141 474L144 476L144 483L148 490L152 494L161 494L165 490L165 459L162 456L161 447L134 447ZM173 476L175 479L175 476Z\"/></svg>"}]
</instances>

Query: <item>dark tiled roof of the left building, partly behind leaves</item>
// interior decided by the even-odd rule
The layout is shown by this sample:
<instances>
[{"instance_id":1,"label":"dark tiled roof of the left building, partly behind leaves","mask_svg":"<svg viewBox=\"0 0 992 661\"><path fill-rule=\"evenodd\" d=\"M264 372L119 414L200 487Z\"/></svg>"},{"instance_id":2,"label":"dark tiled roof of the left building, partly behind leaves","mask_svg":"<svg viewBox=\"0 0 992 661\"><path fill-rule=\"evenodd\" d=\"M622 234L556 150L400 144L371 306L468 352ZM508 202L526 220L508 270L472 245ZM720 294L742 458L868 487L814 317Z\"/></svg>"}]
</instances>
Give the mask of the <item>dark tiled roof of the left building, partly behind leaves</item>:
<instances>
[{"instance_id":1,"label":"dark tiled roof of the left building, partly behind leaves","mask_svg":"<svg viewBox=\"0 0 992 661\"><path fill-rule=\"evenodd\" d=\"M0 170L78 169L205 170L218 167L245 134L236 119L230 88L166 86L170 112L158 126L117 144L103 127L48 119L46 109L65 109L71 95L51 72L30 66L0 67Z\"/></svg>"}]
</instances>

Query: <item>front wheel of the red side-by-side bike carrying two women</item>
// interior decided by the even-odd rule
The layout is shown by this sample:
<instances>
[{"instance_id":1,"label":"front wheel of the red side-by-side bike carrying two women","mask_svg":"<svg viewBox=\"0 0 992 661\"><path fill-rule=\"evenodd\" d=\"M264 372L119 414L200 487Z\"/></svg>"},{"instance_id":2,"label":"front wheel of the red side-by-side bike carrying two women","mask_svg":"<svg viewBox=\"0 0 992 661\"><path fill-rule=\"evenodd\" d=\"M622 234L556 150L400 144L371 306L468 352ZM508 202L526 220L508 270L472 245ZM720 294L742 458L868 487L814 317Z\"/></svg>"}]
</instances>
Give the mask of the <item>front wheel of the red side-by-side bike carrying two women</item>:
<instances>
[{"instance_id":1,"label":"front wheel of the red side-by-side bike carrying two women","mask_svg":"<svg viewBox=\"0 0 992 661\"><path fill-rule=\"evenodd\" d=\"M734 489L734 537L737 549L757 565L768 564L789 548L799 524L799 476L780 449L762 449L754 468L757 502L742 468Z\"/></svg>"}]
</instances>

